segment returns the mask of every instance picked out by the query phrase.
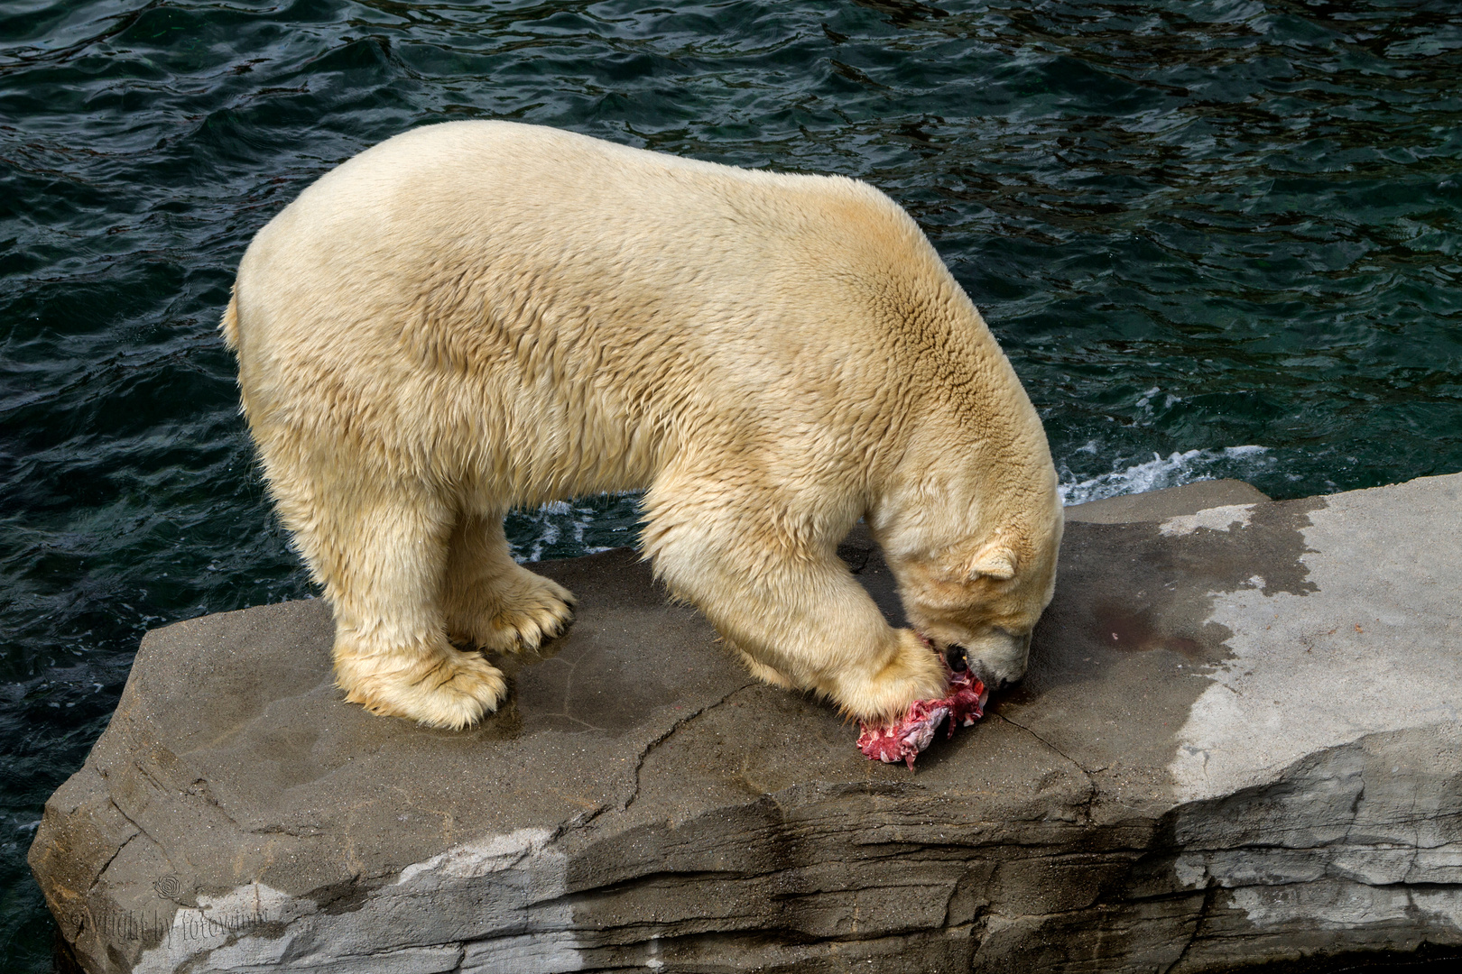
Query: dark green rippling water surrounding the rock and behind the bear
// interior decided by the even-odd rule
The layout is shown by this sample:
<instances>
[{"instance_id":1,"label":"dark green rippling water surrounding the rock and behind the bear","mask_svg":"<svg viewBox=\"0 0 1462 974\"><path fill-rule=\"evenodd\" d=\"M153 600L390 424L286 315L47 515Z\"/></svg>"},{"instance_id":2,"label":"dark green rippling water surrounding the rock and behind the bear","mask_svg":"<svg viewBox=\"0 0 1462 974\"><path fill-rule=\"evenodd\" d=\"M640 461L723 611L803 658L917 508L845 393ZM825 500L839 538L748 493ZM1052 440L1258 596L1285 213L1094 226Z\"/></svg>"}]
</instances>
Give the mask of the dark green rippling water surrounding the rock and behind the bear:
<instances>
[{"instance_id":1,"label":"dark green rippling water surrounding the rock and behind the bear","mask_svg":"<svg viewBox=\"0 0 1462 974\"><path fill-rule=\"evenodd\" d=\"M250 235L412 126L516 118L904 203L1070 499L1462 470L1462 7L1301 0L0 4L0 955L140 632L303 596L215 331ZM515 515L522 555L629 498Z\"/></svg>"}]
</instances>

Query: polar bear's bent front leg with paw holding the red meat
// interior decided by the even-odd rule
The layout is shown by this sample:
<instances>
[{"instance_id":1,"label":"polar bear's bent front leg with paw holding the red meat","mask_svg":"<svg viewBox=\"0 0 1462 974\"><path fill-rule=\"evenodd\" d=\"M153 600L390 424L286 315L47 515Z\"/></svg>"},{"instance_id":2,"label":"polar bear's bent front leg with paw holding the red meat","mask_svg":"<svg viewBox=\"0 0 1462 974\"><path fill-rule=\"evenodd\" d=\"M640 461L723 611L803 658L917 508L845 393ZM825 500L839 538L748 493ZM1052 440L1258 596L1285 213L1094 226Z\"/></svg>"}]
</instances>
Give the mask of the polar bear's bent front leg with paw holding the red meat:
<instances>
[{"instance_id":1,"label":"polar bear's bent front leg with paw holding the red meat","mask_svg":"<svg viewBox=\"0 0 1462 974\"><path fill-rule=\"evenodd\" d=\"M810 689L857 718L902 717L946 692L942 660L890 626L832 546L768 529L765 498L662 480L645 499L646 553L677 596L770 683ZM826 548L826 551L823 551Z\"/></svg>"}]
</instances>

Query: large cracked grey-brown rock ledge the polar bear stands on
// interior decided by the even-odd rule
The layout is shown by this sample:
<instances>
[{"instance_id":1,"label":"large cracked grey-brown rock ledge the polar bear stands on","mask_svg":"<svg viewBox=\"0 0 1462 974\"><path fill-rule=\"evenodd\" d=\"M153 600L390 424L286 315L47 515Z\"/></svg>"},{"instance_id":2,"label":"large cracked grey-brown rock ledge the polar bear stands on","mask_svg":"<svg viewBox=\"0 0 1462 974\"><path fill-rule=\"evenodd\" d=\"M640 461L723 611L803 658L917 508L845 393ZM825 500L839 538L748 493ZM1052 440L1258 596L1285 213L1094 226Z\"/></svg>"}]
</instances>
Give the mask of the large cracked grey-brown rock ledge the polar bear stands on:
<instances>
[{"instance_id":1,"label":"large cracked grey-brown rock ledge the polar bear stands on","mask_svg":"<svg viewBox=\"0 0 1462 974\"><path fill-rule=\"evenodd\" d=\"M1227 499L1227 498L1225 498ZM1161 511L1152 518L1151 510ZM88 971L1213 971L1462 945L1462 475L1073 517L1026 680L917 772L626 551L465 733L317 602L151 632L31 863ZM864 536L841 549L895 619Z\"/></svg>"}]
</instances>

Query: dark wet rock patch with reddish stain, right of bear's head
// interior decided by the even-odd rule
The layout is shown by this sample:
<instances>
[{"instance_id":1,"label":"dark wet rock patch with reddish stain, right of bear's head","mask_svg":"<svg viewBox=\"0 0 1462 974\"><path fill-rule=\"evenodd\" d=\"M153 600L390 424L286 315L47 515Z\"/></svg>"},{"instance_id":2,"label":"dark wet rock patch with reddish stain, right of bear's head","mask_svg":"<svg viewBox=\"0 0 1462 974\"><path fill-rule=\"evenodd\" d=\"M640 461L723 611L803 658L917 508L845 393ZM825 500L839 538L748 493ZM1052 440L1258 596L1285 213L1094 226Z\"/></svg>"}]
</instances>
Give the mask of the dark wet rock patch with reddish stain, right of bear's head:
<instances>
[{"instance_id":1,"label":"dark wet rock patch with reddish stain, right of bear's head","mask_svg":"<svg viewBox=\"0 0 1462 974\"><path fill-rule=\"evenodd\" d=\"M1164 765L1213 667L1234 657L1212 621L1222 593L1316 590L1303 556L1323 498L1256 504L1232 527L1075 521L1061 542L1031 669L1001 714L1102 778L1111 813L1168 802ZM1225 518L1225 524L1228 523Z\"/></svg>"}]
</instances>

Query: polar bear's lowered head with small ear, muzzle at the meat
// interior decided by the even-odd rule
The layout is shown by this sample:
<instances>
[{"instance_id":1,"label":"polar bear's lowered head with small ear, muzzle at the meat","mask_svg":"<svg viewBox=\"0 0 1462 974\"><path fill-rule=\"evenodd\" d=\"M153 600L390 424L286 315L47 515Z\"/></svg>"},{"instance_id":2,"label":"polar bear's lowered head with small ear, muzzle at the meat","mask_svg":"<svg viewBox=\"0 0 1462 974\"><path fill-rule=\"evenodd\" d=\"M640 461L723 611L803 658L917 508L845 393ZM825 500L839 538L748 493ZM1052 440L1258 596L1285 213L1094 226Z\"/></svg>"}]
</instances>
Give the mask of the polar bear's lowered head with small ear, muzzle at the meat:
<instances>
[{"instance_id":1,"label":"polar bear's lowered head with small ear, muzzle at the meat","mask_svg":"<svg viewBox=\"0 0 1462 974\"><path fill-rule=\"evenodd\" d=\"M1045 518L1041 518L1042 521ZM1061 513L1031 527L890 558L909 625L990 689L1025 675L1031 631L1056 588Z\"/></svg>"}]
</instances>

